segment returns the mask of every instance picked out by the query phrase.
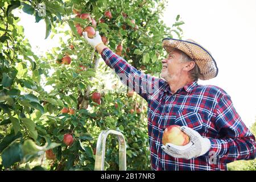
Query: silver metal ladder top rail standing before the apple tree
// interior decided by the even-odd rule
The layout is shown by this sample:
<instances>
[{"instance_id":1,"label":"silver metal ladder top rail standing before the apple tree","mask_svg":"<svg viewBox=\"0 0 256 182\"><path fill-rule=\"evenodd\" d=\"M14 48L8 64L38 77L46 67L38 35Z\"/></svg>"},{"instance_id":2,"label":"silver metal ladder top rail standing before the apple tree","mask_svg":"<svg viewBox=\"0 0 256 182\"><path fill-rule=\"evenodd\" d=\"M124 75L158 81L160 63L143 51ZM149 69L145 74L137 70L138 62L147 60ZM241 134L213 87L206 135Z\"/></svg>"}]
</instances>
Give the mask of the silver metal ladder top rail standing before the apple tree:
<instances>
[{"instance_id":1,"label":"silver metal ladder top rail standing before the apple tree","mask_svg":"<svg viewBox=\"0 0 256 182\"><path fill-rule=\"evenodd\" d=\"M119 170L126 171L126 144L125 137L119 131L115 130L104 130L101 131L96 147L96 157L95 157L95 171L104 171L105 164L105 149L106 149L106 139L109 134L116 135L119 143Z\"/></svg>"}]
</instances>

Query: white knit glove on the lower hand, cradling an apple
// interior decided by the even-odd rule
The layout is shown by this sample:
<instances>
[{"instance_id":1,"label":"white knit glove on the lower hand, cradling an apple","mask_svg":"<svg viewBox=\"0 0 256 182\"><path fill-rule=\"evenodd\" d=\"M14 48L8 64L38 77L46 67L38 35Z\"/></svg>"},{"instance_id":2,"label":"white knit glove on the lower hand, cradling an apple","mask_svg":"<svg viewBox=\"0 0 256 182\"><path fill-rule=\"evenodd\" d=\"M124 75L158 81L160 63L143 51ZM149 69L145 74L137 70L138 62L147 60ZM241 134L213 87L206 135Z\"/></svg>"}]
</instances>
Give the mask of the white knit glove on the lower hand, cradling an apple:
<instances>
[{"instance_id":1,"label":"white knit glove on the lower hand, cradling an apple","mask_svg":"<svg viewBox=\"0 0 256 182\"><path fill-rule=\"evenodd\" d=\"M185 146L176 146L172 143L162 145L162 149L166 154L174 158L192 159L204 155L210 150L210 140L202 137L197 131L181 126L181 130L188 135L189 143Z\"/></svg>"}]
</instances>

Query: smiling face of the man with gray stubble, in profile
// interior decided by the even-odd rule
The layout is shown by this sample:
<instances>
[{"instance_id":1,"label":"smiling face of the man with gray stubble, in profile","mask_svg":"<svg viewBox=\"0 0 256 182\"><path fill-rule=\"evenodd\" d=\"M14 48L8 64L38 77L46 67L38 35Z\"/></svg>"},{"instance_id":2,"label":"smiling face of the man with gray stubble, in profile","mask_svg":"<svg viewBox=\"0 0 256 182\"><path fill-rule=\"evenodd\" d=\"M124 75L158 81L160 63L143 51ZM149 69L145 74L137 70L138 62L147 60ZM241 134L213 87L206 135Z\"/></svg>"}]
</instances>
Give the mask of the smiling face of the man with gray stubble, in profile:
<instances>
[{"instance_id":1,"label":"smiling face of the man with gray stubble, in profile","mask_svg":"<svg viewBox=\"0 0 256 182\"><path fill-rule=\"evenodd\" d=\"M164 80L168 82L179 78L184 67L180 61L180 53L175 50L170 52L167 58L162 60L162 66L160 77Z\"/></svg>"}]
</instances>

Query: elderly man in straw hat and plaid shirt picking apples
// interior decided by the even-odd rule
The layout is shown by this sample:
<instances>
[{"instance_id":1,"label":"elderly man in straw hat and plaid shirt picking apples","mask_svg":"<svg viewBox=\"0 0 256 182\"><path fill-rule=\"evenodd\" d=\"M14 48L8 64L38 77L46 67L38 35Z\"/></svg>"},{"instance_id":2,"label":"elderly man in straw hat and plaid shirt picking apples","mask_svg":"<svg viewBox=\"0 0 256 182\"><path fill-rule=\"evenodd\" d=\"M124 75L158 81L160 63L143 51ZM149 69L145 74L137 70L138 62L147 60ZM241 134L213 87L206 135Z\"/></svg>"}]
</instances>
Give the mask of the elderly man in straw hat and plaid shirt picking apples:
<instances>
[{"instance_id":1,"label":"elderly man in straw hat and plaid shirt picking apples","mask_svg":"<svg viewBox=\"0 0 256 182\"><path fill-rule=\"evenodd\" d=\"M148 138L153 170L226 170L234 160L255 158L255 137L221 88L199 85L197 80L216 77L212 55L193 40L163 39L168 56L156 78L138 71L104 46L96 32L88 43L105 63L122 73L122 82L148 102ZM139 89L137 89L139 88ZM153 90L153 92L152 92ZM179 125L190 142L185 146L163 145L163 131Z\"/></svg>"}]
</instances>

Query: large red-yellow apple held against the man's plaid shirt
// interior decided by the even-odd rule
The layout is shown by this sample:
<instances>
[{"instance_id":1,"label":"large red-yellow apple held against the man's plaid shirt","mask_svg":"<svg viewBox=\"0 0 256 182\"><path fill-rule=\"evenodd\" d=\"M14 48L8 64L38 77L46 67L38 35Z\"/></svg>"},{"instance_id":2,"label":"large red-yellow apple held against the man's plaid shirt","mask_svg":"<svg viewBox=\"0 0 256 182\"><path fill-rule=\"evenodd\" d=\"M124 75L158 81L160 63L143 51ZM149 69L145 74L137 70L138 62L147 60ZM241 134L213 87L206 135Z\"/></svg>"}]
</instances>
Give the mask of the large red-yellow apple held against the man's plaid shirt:
<instances>
[{"instance_id":1,"label":"large red-yellow apple held against the man's plaid shirt","mask_svg":"<svg viewBox=\"0 0 256 182\"><path fill-rule=\"evenodd\" d=\"M185 146L189 142L189 137L183 131L181 131L180 126L171 125L168 126L163 133L162 143L172 143L177 146Z\"/></svg>"}]
</instances>

